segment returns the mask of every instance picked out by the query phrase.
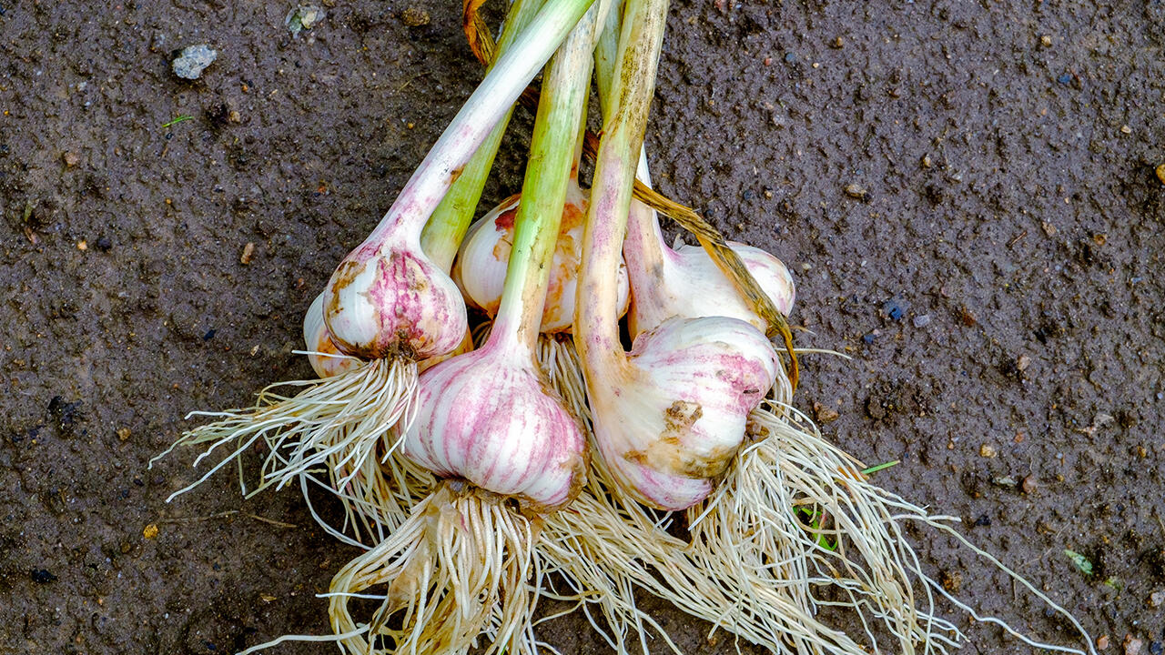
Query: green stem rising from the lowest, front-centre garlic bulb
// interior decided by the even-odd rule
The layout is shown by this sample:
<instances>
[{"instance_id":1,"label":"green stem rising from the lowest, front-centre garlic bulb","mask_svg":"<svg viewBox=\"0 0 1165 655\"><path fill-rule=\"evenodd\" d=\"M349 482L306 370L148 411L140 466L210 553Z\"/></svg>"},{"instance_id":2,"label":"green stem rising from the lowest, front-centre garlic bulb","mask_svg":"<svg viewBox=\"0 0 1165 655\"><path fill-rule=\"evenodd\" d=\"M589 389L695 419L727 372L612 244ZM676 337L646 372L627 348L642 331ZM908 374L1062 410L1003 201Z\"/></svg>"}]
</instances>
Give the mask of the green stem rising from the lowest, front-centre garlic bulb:
<instances>
[{"instance_id":1,"label":"green stem rising from the lowest, front-centre garlic bulb","mask_svg":"<svg viewBox=\"0 0 1165 655\"><path fill-rule=\"evenodd\" d=\"M595 14L592 8L551 59L543 77L530 160L515 217L506 286L489 341L537 344L555 245L574 164L574 146L591 90ZM495 341L495 339L497 341Z\"/></svg>"}]
</instances>

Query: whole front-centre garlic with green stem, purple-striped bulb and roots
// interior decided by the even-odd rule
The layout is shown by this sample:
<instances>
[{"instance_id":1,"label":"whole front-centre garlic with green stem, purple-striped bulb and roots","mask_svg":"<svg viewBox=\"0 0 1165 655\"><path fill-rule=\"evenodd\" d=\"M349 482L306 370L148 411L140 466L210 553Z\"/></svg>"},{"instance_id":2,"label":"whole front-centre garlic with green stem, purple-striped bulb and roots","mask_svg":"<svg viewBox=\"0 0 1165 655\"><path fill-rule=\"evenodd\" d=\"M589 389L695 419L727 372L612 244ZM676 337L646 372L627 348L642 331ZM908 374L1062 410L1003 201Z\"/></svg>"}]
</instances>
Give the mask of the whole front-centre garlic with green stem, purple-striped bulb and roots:
<instances>
[{"instance_id":1,"label":"whole front-centre garlic with green stem, purple-striped bulb and roots","mask_svg":"<svg viewBox=\"0 0 1165 655\"><path fill-rule=\"evenodd\" d=\"M386 652L465 653L482 632L493 638L486 653L537 649L530 578L537 586L543 573L535 556L539 530L529 516L571 502L586 481L586 438L548 392L535 347L598 9L546 71L494 329L481 348L421 376L416 421L398 428L407 430L400 453L443 481L389 538L332 582L332 627L348 653L381 653L380 639ZM348 601L381 583L388 594L362 629Z\"/></svg>"}]
</instances>

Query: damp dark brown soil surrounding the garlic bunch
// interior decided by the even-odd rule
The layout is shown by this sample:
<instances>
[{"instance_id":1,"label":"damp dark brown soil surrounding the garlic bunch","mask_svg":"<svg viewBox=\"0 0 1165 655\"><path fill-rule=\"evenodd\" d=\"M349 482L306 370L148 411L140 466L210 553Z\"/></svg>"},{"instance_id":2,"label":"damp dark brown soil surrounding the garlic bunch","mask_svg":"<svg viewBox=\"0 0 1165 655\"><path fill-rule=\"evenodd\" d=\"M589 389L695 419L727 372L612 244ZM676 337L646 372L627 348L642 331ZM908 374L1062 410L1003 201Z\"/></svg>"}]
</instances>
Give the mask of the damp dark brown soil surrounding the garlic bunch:
<instances>
[{"instance_id":1,"label":"damp dark brown soil surrounding the garlic bunch","mask_svg":"<svg viewBox=\"0 0 1165 655\"><path fill-rule=\"evenodd\" d=\"M243 500L227 470L165 503L205 467L147 465L188 413L311 376L304 310L480 79L459 6L323 3L292 37L278 2L0 1L2 653L327 631L313 594L356 551L295 490ZM657 184L795 270L798 344L848 357L804 357L800 407L1109 652L1159 654L1165 2L677 0L669 29ZM198 43L217 61L177 78ZM915 537L961 598L1079 645ZM735 652L648 605L687 652ZM1031 652L945 614L976 653ZM607 650L579 615L541 634Z\"/></svg>"}]
</instances>

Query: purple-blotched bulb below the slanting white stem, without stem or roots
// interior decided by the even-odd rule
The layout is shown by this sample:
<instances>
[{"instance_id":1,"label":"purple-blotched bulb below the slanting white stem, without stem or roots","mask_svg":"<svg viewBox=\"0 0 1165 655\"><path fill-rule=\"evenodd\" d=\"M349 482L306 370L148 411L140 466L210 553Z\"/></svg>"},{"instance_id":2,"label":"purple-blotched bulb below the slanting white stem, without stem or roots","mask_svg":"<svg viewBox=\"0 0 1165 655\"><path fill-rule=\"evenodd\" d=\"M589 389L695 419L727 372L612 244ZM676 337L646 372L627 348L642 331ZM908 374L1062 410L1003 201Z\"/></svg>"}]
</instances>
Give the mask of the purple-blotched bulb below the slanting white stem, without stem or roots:
<instances>
[{"instance_id":1,"label":"purple-blotched bulb below the slanting white stem, without stem or roots","mask_svg":"<svg viewBox=\"0 0 1165 655\"><path fill-rule=\"evenodd\" d=\"M324 323L340 352L367 360L445 354L468 329L457 284L416 235L365 241L348 253L324 290Z\"/></svg>"}]
</instances>

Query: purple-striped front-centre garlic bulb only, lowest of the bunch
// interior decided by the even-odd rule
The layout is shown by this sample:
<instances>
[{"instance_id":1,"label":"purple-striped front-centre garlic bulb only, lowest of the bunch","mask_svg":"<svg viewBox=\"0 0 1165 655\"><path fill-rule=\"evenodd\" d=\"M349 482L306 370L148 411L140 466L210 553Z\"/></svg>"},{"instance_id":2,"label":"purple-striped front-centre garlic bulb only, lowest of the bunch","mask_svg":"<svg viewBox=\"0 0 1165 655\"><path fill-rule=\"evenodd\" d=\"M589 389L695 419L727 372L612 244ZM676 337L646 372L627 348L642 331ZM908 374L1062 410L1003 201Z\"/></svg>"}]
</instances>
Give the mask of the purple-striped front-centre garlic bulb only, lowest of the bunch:
<instances>
[{"instance_id":1,"label":"purple-striped front-centre garlic bulb only, lowest of the bunch","mask_svg":"<svg viewBox=\"0 0 1165 655\"><path fill-rule=\"evenodd\" d=\"M586 437L532 358L487 343L424 372L401 452L439 477L549 510L586 483Z\"/></svg>"}]
</instances>

